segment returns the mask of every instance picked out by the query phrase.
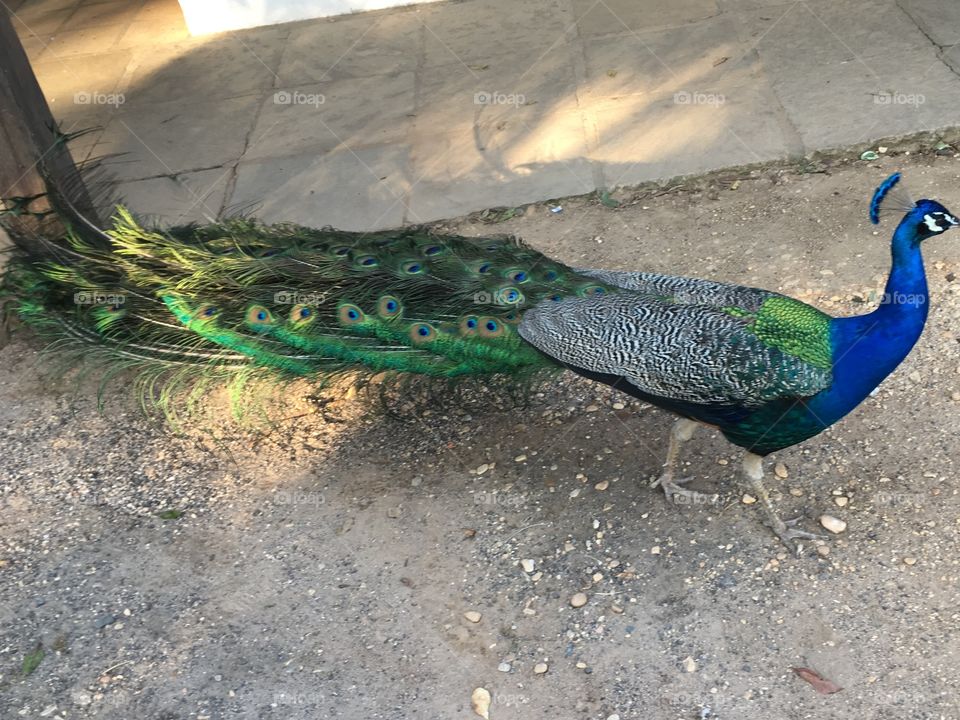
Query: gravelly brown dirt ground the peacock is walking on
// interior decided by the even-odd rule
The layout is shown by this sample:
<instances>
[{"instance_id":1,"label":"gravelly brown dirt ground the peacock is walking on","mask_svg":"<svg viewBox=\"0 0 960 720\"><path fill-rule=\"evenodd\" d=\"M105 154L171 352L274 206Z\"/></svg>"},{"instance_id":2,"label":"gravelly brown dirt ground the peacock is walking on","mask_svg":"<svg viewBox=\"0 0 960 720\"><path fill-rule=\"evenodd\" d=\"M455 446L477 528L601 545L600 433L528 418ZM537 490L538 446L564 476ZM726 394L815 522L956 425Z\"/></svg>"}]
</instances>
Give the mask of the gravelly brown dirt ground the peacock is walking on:
<instances>
[{"instance_id":1,"label":"gravelly brown dirt ground the peacock is walking on","mask_svg":"<svg viewBox=\"0 0 960 720\"><path fill-rule=\"evenodd\" d=\"M894 221L866 206L898 168L960 210L960 160L901 155L445 227L850 314L883 285ZM669 505L649 487L668 416L569 375L527 402L478 384L386 410L294 386L269 431L214 396L175 433L123 382L99 413L92 380L17 333L0 350L0 717L467 720L484 687L493 720L960 718L958 241L926 247L930 320L904 366L768 460L785 516L847 523L799 558L741 501L736 448L700 431L681 474L720 502Z\"/></svg>"}]
</instances>

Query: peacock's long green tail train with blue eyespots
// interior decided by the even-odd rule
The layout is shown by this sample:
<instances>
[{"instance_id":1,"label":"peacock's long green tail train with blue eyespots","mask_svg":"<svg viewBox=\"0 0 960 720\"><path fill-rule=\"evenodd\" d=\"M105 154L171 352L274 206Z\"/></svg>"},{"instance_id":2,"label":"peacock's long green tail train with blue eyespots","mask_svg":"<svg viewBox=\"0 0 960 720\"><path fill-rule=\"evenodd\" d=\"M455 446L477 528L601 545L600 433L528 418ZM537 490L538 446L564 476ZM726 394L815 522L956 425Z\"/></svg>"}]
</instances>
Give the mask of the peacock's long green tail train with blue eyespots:
<instances>
[{"instance_id":1,"label":"peacock's long green tail train with blue eyespots","mask_svg":"<svg viewBox=\"0 0 960 720\"><path fill-rule=\"evenodd\" d=\"M423 229L234 219L161 231L118 207L95 240L55 245L56 260L20 251L10 263L16 312L55 349L140 370L151 393L356 370L526 377L555 364L516 332L523 312L612 290L512 238Z\"/></svg>"}]
</instances>

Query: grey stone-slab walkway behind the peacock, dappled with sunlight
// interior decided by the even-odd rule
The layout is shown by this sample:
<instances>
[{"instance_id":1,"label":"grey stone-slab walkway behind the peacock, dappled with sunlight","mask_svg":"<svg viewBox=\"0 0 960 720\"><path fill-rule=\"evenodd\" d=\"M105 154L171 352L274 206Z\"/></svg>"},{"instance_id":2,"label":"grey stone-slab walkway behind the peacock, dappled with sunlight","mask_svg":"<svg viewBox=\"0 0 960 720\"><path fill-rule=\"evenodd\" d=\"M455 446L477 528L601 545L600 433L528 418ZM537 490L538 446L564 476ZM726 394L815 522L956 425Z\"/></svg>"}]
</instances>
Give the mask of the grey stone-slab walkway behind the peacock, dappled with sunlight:
<instances>
[{"instance_id":1,"label":"grey stone-slab walkway behind the peacock, dappled with sunlight","mask_svg":"<svg viewBox=\"0 0 960 720\"><path fill-rule=\"evenodd\" d=\"M954 0L468 0L197 38L175 0L14 9L64 129L103 125L78 159L125 153L165 222L381 228L960 124Z\"/></svg>"}]
</instances>

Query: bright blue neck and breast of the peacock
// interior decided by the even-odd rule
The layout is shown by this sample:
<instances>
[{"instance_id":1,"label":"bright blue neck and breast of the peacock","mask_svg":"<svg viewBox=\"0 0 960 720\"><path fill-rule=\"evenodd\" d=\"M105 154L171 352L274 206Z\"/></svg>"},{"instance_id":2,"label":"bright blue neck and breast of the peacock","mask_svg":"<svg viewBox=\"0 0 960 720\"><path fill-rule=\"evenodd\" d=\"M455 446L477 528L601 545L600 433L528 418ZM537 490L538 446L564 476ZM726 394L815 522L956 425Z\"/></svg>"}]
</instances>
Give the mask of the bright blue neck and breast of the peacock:
<instances>
[{"instance_id":1,"label":"bright blue neck and breast of the peacock","mask_svg":"<svg viewBox=\"0 0 960 720\"><path fill-rule=\"evenodd\" d=\"M833 385L813 409L835 422L853 410L901 363L927 320L927 277L917 222L910 215L893 235L893 265L884 297L868 315L831 322Z\"/></svg>"}]
</instances>

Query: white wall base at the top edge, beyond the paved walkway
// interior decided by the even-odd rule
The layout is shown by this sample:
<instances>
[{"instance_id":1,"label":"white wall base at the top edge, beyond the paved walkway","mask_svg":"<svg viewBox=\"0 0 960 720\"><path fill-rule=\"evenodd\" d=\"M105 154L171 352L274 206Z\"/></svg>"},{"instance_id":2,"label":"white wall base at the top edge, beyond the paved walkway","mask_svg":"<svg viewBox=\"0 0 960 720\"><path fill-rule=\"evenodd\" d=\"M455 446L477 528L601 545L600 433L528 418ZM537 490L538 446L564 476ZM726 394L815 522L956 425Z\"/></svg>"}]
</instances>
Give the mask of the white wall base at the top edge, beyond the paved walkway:
<instances>
[{"instance_id":1,"label":"white wall base at the top edge, beyond the paved walkway","mask_svg":"<svg viewBox=\"0 0 960 720\"><path fill-rule=\"evenodd\" d=\"M411 4L412 0L180 0L192 35Z\"/></svg>"}]
</instances>

